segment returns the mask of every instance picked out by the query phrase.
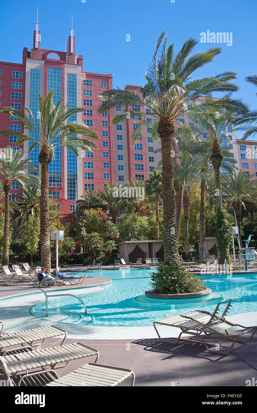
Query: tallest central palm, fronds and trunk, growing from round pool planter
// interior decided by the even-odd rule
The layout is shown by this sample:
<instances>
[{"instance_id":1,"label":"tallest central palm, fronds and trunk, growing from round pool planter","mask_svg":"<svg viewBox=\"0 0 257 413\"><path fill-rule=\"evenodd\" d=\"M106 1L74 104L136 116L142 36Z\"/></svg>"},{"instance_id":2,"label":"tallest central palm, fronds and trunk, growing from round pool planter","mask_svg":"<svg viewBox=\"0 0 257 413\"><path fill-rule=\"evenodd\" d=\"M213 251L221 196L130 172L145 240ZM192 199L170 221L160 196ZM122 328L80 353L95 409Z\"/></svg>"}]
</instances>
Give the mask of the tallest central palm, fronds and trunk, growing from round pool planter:
<instances>
[{"instance_id":1,"label":"tallest central palm, fronds and trunk, growing from round pool planter","mask_svg":"<svg viewBox=\"0 0 257 413\"><path fill-rule=\"evenodd\" d=\"M182 49L174 53L174 45L167 46L167 36L162 32L157 40L155 53L146 73L146 85L134 91L129 87L124 90L112 89L100 93L105 101L98 112L113 109L116 106L126 107L126 113L112 119L113 124L130 119L138 119L138 126L132 135L132 145L140 138L142 128L152 128L152 137L160 138L162 146L162 199L164 216L164 260L174 261L179 265L178 240L175 221L175 195L173 185L172 142L177 117L184 110L189 114L188 101L194 101L199 95L207 95L217 91L235 91L237 86L231 83L236 78L233 72L225 72L210 78L193 80L197 69L212 62L221 53L220 47L192 54L197 40L190 38ZM161 48L162 41L163 47ZM202 104L205 107L205 104ZM212 102L212 107L222 106ZM132 109L130 109L132 107ZM144 108L148 108L155 119L151 124L146 118ZM189 106L190 107L190 106ZM143 110L141 110L141 108ZM149 112L149 111L148 111ZM148 115L147 115L148 116Z\"/></svg>"}]
</instances>

